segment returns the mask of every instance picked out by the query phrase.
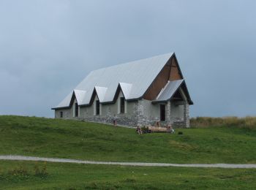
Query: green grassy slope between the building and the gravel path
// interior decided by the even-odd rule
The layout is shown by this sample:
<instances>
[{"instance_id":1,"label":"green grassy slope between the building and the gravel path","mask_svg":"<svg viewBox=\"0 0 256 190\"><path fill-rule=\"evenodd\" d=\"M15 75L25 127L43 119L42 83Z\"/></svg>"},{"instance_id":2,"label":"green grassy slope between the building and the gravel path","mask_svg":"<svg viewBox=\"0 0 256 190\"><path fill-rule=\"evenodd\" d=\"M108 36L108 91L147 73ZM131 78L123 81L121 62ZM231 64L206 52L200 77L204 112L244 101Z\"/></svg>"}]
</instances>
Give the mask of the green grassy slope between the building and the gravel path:
<instances>
[{"instance_id":1,"label":"green grassy slope between the building and the gravel path","mask_svg":"<svg viewBox=\"0 0 256 190\"><path fill-rule=\"evenodd\" d=\"M256 163L256 130L232 127L135 134L134 129L46 118L0 116L0 154L95 161Z\"/></svg>"}]
</instances>

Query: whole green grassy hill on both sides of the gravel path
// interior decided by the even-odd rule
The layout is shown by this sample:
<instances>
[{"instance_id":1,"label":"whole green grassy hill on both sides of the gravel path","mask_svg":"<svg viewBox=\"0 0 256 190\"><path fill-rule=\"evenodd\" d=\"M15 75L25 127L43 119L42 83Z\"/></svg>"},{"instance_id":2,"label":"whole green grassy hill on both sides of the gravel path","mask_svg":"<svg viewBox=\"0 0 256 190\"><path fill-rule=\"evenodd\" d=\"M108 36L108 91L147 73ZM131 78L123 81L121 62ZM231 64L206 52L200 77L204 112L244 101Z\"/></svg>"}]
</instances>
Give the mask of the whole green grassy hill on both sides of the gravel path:
<instances>
[{"instance_id":1,"label":"whole green grassy hill on both sides of the gravel path","mask_svg":"<svg viewBox=\"0 0 256 190\"><path fill-rule=\"evenodd\" d=\"M198 121L201 127L208 119ZM178 135L178 131L183 134ZM255 137L255 128L236 125L138 135L135 129L98 123L0 116L0 154L95 161L256 163ZM0 161L0 189L255 189L255 186L255 169Z\"/></svg>"}]
</instances>

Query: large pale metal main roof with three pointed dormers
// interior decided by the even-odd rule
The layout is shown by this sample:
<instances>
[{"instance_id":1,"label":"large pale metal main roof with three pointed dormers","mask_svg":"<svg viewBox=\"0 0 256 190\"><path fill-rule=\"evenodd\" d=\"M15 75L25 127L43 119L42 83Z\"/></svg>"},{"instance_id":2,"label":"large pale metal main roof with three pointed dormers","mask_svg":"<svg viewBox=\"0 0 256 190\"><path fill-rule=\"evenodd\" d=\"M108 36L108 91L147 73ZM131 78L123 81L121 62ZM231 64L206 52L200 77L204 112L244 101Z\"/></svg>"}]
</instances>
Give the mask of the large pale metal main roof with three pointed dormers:
<instances>
[{"instance_id":1,"label":"large pale metal main roof with three pointed dormers","mask_svg":"<svg viewBox=\"0 0 256 190\"><path fill-rule=\"evenodd\" d=\"M78 104L89 104L94 89L99 102L112 102L118 86L125 99L140 98L171 56L173 53L167 53L90 72L74 89ZM55 108L69 107L72 94L73 91Z\"/></svg>"}]
</instances>

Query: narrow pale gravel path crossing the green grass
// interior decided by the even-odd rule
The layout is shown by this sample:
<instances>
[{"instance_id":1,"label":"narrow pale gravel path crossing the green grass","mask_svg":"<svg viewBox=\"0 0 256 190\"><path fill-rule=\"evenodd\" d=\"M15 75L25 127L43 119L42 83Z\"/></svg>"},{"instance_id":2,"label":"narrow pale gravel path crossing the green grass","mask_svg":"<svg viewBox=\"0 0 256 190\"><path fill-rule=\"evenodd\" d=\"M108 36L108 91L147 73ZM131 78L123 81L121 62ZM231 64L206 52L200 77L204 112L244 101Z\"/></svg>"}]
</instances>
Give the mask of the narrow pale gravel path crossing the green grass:
<instances>
[{"instance_id":1,"label":"narrow pale gravel path crossing the green grass","mask_svg":"<svg viewBox=\"0 0 256 190\"><path fill-rule=\"evenodd\" d=\"M77 164L105 164L122 166L149 166L149 167L220 167L220 168L256 168L256 164L167 164L146 162L116 162L116 161L83 161L77 159L53 159L33 156L0 156L0 160L22 160L22 161L50 161Z\"/></svg>"}]
</instances>

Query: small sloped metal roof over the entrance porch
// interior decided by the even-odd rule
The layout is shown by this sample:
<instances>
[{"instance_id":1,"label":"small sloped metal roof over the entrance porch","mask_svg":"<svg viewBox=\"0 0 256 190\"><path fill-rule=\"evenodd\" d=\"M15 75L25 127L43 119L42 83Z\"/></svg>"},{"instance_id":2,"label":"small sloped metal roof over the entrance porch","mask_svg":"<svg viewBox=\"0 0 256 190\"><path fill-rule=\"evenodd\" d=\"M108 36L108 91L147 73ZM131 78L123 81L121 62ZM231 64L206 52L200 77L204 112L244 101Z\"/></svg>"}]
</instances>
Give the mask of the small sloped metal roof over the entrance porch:
<instances>
[{"instance_id":1,"label":"small sloped metal roof over the entrance porch","mask_svg":"<svg viewBox=\"0 0 256 190\"><path fill-rule=\"evenodd\" d=\"M184 79L181 80L172 80L168 81L168 83L165 85L164 88L162 88L162 91L160 91L157 98L154 100L154 102L163 102L170 99L173 94L176 93L178 88L181 86L181 84L184 82Z\"/></svg>"}]
</instances>

